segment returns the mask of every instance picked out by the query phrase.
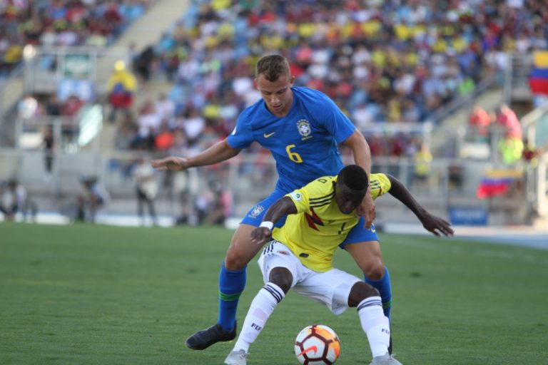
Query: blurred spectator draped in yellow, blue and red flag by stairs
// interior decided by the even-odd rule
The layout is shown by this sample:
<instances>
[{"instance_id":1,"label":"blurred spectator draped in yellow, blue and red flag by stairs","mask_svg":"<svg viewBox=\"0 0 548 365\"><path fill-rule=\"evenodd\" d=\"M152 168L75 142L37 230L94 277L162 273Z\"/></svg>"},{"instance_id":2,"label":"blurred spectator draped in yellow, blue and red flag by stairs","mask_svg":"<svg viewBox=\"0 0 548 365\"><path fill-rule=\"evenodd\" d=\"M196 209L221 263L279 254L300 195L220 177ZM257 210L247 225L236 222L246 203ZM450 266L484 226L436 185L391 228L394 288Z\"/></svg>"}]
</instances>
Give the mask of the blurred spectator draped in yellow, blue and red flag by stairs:
<instances>
[{"instance_id":1,"label":"blurred spectator draped in yellow, blue and red flag by stairs","mask_svg":"<svg viewBox=\"0 0 548 365\"><path fill-rule=\"evenodd\" d=\"M133 104L133 94L137 89L137 81L133 73L126 68L126 63L116 61L114 71L108 78L106 91L108 93L108 103L111 106L111 113L108 115L108 121L113 123L116 120L116 112L122 110L124 114L129 112Z\"/></svg>"}]
</instances>

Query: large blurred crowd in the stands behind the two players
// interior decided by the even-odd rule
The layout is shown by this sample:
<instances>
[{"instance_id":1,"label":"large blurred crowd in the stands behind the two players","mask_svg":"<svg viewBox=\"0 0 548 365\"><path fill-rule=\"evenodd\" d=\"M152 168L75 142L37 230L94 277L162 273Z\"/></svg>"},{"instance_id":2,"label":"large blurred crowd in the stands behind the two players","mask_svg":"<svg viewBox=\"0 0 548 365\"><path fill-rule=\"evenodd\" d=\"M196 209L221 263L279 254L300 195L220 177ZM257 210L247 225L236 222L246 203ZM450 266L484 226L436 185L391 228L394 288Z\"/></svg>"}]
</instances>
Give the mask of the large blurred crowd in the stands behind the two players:
<instances>
[{"instance_id":1,"label":"large blurred crowd in the stands behind the two players","mask_svg":"<svg viewBox=\"0 0 548 365\"><path fill-rule=\"evenodd\" d=\"M360 130L420 123L496 77L508 52L547 48L542 3L193 1L153 48L153 72L173 81L171 93L126 120L118 147L201 150L225 137L259 98L256 59L280 50L295 84L327 93ZM371 138L374 155L412 156L422 143L409 133Z\"/></svg>"}]
</instances>

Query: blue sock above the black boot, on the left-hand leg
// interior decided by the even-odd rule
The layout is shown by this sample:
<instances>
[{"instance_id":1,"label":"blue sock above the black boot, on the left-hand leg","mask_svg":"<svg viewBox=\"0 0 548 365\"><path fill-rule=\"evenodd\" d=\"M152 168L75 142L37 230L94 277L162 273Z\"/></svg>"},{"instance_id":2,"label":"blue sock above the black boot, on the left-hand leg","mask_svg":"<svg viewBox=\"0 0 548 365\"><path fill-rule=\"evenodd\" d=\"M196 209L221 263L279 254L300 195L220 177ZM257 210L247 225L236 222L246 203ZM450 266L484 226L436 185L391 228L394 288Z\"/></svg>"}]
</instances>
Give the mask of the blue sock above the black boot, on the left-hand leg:
<instances>
[{"instance_id":1,"label":"blue sock above the black boot, on the left-hand leg","mask_svg":"<svg viewBox=\"0 0 548 365\"><path fill-rule=\"evenodd\" d=\"M230 271L223 266L219 273L219 319L217 321L225 331L234 328L238 300L245 288L245 267L238 271Z\"/></svg>"}]
</instances>

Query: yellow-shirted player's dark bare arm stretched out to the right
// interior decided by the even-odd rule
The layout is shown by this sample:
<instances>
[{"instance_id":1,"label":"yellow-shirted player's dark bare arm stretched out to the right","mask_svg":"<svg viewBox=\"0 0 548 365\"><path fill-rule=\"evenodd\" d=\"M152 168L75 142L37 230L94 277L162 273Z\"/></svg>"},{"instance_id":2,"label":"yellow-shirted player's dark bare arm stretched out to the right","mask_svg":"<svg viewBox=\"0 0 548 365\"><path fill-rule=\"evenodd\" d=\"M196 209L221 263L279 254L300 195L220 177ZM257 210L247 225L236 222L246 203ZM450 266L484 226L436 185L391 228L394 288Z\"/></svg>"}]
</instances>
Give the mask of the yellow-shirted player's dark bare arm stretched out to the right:
<instances>
[{"instance_id":1,"label":"yellow-shirted player's dark bare arm stretched out to the right","mask_svg":"<svg viewBox=\"0 0 548 365\"><path fill-rule=\"evenodd\" d=\"M411 195L411 192L407 190L407 187L400 183L400 180L397 180L392 175L386 176L392 185L389 190L390 194L415 213L422 223L422 226L425 227L428 232L432 232L437 237L440 237L441 235L452 236L455 233L451 228L450 222L435 215L431 215L430 212L425 210L425 208L415 200L415 197Z\"/></svg>"}]
</instances>

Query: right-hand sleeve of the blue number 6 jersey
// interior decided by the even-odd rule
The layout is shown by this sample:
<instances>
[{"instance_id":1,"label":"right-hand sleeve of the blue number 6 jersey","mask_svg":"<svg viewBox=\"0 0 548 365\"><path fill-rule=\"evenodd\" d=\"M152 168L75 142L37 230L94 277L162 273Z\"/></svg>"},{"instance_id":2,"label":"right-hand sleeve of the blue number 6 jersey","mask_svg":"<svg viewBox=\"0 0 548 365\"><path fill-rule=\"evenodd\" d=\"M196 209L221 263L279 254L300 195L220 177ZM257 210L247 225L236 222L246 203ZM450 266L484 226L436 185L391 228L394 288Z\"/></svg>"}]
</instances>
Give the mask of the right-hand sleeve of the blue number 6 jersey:
<instances>
[{"instance_id":1,"label":"right-hand sleeve of the blue number 6 jersey","mask_svg":"<svg viewBox=\"0 0 548 365\"><path fill-rule=\"evenodd\" d=\"M320 100L310 111L320 123L323 123L324 128L333 135L337 143L344 142L356 130L355 125L327 95L319 91L317 93Z\"/></svg>"}]
</instances>

